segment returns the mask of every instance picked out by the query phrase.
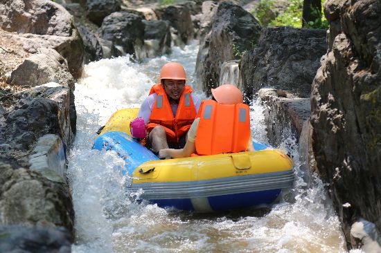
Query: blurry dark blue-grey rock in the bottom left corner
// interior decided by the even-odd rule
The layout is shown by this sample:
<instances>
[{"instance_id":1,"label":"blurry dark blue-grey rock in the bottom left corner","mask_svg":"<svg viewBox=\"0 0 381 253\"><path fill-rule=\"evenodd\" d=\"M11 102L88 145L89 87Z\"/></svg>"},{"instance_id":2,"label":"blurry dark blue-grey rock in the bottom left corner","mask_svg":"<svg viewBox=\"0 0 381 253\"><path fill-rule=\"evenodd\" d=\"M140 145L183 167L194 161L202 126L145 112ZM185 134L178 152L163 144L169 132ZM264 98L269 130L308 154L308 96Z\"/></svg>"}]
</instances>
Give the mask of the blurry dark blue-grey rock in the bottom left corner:
<instances>
[{"instance_id":1,"label":"blurry dark blue-grey rock in the bottom left corner","mask_svg":"<svg viewBox=\"0 0 381 253\"><path fill-rule=\"evenodd\" d=\"M43 227L1 226L0 252L71 252L67 229Z\"/></svg>"}]
</instances>

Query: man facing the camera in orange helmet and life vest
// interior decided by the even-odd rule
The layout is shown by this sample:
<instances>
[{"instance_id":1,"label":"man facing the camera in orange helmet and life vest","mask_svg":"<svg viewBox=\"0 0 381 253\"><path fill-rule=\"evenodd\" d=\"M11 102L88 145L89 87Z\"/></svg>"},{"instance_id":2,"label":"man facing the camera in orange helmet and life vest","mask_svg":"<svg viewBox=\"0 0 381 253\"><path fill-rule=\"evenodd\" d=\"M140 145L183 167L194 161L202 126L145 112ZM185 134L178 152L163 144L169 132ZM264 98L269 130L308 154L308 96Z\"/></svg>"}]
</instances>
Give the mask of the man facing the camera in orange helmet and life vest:
<instances>
[{"instance_id":1,"label":"man facing the camera in orange helmet and life vest","mask_svg":"<svg viewBox=\"0 0 381 253\"><path fill-rule=\"evenodd\" d=\"M160 84L152 86L138 113L147 127L146 146L154 152L184 147L186 133L201 104L200 98L185 84L188 79L181 64L165 64L159 79Z\"/></svg>"}]
</instances>

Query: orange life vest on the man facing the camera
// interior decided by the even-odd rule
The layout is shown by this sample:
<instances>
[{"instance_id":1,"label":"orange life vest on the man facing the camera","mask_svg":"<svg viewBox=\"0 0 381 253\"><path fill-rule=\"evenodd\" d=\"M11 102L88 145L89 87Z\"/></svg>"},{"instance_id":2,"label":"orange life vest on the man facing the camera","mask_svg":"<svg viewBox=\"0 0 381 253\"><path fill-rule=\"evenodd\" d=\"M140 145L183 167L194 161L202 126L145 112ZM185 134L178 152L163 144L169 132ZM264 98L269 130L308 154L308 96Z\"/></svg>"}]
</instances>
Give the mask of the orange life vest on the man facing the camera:
<instances>
[{"instance_id":1,"label":"orange life vest on the man facing the camera","mask_svg":"<svg viewBox=\"0 0 381 253\"><path fill-rule=\"evenodd\" d=\"M157 100L154 102L150 121L147 124L148 133L150 133L154 127L160 125L166 129L168 141L179 142L179 138L190 129L190 125L196 117L196 108L191 96L192 91L190 86L184 86L176 116L174 117L163 86L161 84L154 84L151 88L150 95L157 93Z\"/></svg>"}]
</instances>

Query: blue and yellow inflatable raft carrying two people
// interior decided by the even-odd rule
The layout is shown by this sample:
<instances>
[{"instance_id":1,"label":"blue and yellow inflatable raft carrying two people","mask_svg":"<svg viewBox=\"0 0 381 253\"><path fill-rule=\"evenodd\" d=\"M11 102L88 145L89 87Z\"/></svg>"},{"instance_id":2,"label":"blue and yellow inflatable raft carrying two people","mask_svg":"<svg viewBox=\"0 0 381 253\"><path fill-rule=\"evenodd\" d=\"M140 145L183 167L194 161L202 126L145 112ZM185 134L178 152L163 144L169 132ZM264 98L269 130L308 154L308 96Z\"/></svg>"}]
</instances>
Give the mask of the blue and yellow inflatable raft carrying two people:
<instances>
[{"instance_id":1,"label":"blue and yellow inflatable raft carrying two people","mask_svg":"<svg viewBox=\"0 0 381 253\"><path fill-rule=\"evenodd\" d=\"M254 142L254 152L159 160L130 136L139 109L116 111L94 149L116 151L132 176L130 191L160 207L213 212L270 204L294 182L293 162Z\"/></svg>"}]
</instances>

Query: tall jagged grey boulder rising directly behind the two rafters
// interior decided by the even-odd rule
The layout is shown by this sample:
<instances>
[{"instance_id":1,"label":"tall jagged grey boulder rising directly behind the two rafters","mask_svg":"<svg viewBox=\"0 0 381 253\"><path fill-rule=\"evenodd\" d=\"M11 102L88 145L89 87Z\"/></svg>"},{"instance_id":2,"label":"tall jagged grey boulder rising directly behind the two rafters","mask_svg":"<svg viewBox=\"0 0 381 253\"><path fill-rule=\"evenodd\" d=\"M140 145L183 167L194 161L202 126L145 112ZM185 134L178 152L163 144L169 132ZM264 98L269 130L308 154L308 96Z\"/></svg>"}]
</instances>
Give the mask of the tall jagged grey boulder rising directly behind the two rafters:
<instances>
[{"instance_id":1,"label":"tall jagged grey boulder rising directly behind the two rafters","mask_svg":"<svg viewBox=\"0 0 381 253\"><path fill-rule=\"evenodd\" d=\"M197 82L202 84L206 93L219 86L220 70L224 62L239 59L243 51L257 44L260 34L258 21L242 7L223 2L213 20L207 54L197 57ZM200 50L206 50L205 46ZM202 55L202 57L201 57Z\"/></svg>"}]
</instances>

